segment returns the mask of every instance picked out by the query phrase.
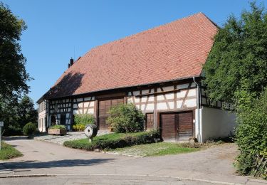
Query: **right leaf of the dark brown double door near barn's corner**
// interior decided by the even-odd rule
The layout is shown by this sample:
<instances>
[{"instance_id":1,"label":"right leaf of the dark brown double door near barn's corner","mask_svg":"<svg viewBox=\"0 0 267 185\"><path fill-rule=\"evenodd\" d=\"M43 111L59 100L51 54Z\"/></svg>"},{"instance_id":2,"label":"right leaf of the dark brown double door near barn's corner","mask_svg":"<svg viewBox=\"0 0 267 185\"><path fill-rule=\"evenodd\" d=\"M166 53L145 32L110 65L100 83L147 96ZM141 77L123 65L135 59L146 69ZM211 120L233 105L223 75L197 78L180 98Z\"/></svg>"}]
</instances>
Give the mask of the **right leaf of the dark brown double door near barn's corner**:
<instances>
[{"instance_id":1,"label":"right leaf of the dark brown double door near barn's corner","mask_svg":"<svg viewBox=\"0 0 267 185\"><path fill-rule=\"evenodd\" d=\"M178 117L178 140L188 141L193 136L193 112L179 112Z\"/></svg>"}]
</instances>

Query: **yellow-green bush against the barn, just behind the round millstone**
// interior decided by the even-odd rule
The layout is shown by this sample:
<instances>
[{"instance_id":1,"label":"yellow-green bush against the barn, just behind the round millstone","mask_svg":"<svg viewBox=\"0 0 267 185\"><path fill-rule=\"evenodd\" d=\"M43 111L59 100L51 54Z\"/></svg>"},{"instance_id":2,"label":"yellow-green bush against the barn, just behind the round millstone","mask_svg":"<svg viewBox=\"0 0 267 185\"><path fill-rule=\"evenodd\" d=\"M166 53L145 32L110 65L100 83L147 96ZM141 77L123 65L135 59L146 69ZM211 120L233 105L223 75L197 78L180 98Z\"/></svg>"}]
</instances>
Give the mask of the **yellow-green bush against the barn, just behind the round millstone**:
<instances>
[{"instance_id":1,"label":"yellow-green bush against the barn, just behind the round millstone","mask_svg":"<svg viewBox=\"0 0 267 185\"><path fill-rule=\"evenodd\" d=\"M75 115L73 129L83 131L88 124L95 124L95 116L92 114Z\"/></svg>"}]
</instances>

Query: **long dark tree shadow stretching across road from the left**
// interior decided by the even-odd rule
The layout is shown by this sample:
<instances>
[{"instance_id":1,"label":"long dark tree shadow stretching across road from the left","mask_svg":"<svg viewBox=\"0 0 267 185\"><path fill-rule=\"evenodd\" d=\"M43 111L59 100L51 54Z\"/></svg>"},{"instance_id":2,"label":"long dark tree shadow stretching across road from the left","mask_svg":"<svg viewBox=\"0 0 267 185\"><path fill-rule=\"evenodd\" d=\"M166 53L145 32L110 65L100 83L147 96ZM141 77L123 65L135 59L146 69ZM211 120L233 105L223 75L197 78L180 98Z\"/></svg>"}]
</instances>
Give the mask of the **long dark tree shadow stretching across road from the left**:
<instances>
[{"instance_id":1,"label":"long dark tree shadow stretching across road from the left","mask_svg":"<svg viewBox=\"0 0 267 185\"><path fill-rule=\"evenodd\" d=\"M64 159L51 162L4 162L4 166L8 169L40 169L40 168L56 168L56 167L72 167L72 166L92 166L105 162L112 162L115 159Z\"/></svg>"}]
</instances>

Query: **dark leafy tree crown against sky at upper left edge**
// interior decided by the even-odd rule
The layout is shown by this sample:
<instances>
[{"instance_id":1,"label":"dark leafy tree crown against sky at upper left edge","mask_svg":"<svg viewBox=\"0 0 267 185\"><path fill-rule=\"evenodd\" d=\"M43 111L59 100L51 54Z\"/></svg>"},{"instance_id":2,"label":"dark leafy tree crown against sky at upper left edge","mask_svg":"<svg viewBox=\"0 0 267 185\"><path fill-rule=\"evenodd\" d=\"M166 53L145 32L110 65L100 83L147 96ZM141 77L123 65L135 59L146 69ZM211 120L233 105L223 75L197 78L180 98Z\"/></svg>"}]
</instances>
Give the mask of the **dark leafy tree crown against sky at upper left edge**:
<instances>
[{"instance_id":1,"label":"dark leafy tree crown against sky at upper left edge","mask_svg":"<svg viewBox=\"0 0 267 185\"><path fill-rule=\"evenodd\" d=\"M12 14L8 6L0 2L0 100L14 100L28 93L26 82L31 80L26 72L26 58L21 53L19 41L26 29L22 19Z\"/></svg>"}]
</instances>

